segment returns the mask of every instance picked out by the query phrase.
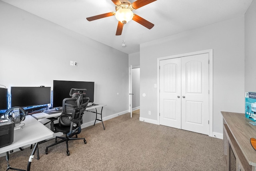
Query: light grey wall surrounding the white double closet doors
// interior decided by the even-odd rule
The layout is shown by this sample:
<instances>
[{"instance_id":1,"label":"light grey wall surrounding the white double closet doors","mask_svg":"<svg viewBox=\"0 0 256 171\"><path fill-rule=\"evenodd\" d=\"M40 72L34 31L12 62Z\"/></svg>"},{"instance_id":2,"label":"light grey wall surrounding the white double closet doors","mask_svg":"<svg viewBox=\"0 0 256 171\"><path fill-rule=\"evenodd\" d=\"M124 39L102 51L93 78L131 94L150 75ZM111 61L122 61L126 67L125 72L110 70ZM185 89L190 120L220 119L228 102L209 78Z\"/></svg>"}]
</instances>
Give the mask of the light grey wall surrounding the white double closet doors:
<instances>
[{"instance_id":1,"label":"light grey wall surrounding the white double closet doors","mask_svg":"<svg viewBox=\"0 0 256 171\"><path fill-rule=\"evenodd\" d=\"M220 111L244 112L244 16L141 44L140 117L157 120L157 58L209 49L213 49L213 132L222 135Z\"/></svg>"}]
</instances>

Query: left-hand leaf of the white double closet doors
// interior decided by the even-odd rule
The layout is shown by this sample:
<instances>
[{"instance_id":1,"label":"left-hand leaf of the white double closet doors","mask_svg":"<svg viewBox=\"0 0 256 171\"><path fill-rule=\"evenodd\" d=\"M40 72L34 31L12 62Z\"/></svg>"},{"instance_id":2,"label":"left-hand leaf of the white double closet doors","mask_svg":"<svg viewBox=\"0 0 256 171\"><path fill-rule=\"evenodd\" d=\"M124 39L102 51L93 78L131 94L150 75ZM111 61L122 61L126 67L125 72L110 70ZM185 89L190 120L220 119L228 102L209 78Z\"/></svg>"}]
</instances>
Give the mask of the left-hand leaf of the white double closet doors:
<instances>
[{"instance_id":1,"label":"left-hand leaf of the white double closet doors","mask_svg":"<svg viewBox=\"0 0 256 171\"><path fill-rule=\"evenodd\" d=\"M160 61L160 125L181 129L181 60Z\"/></svg>"}]
</instances>

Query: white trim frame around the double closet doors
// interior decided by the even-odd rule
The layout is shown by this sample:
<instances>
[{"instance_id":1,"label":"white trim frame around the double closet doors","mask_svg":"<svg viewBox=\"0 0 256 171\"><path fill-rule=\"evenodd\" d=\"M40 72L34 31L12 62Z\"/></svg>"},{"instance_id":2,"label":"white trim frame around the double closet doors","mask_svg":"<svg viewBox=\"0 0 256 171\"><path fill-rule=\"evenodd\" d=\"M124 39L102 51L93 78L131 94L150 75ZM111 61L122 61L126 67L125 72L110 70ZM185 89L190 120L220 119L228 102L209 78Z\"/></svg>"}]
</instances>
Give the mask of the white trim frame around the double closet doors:
<instances>
[{"instance_id":1,"label":"white trim frame around the double closet doors","mask_svg":"<svg viewBox=\"0 0 256 171\"><path fill-rule=\"evenodd\" d=\"M208 54L209 59L209 136L213 136L213 50L202 50L198 52L190 52L187 54L179 54L174 56L166 56L157 58L157 124L160 125L160 60L167 60L172 58L181 58L185 56Z\"/></svg>"}]
</instances>

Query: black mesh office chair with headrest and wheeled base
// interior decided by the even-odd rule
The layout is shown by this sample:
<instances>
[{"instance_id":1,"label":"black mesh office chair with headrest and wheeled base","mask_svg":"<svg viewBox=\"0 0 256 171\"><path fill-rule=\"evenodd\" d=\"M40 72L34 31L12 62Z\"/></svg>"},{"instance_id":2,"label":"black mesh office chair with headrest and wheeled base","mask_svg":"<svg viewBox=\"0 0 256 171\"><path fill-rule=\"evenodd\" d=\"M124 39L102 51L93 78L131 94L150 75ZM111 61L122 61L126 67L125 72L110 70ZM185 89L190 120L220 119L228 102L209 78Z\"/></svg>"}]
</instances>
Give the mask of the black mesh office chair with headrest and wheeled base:
<instances>
[{"instance_id":1,"label":"black mesh office chair with headrest and wheeled base","mask_svg":"<svg viewBox=\"0 0 256 171\"><path fill-rule=\"evenodd\" d=\"M86 89L72 88L70 90L70 95L72 96L72 98L65 98L62 101L63 111L60 115L59 123L54 124L54 132L62 132L66 136L56 136L55 143L46 147L46 154L48 154L49 147L52 147L62 142L66 142L66 152L67 155L70 155L70 152L68 150L69 140L84 139L84 143L87 143L85 138L77 137L77 135L81 132L82 116L89 102L89 97L86 97L85 91ZM72 138L74 135L76 135L76 138ZM58 138L62 140L57 141Z\"/></svg>"}]
</instances>

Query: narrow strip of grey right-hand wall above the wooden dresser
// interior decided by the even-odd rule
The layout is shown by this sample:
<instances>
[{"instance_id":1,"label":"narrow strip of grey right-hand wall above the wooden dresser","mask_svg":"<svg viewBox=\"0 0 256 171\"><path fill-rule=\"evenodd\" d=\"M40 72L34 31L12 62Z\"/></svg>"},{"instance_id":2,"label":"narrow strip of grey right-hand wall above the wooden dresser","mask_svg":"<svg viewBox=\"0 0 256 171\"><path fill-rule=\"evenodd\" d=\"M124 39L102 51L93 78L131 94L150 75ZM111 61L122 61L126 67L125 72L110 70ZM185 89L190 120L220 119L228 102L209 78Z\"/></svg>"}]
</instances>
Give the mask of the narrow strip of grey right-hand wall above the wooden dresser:
<instances>
[{"instance_id":1,"label":"narrow strip of grey right-hand wall above the wooden dresser","mask_svg":"<svg viewBox=\"0 0 256 171\"><path fill-rule=\"evenodd\" d=\"M256 0L245 14L245 91L256 92Z\"/></svg>"}]
</instances>

